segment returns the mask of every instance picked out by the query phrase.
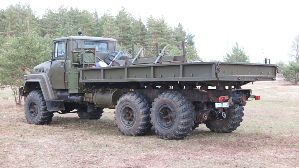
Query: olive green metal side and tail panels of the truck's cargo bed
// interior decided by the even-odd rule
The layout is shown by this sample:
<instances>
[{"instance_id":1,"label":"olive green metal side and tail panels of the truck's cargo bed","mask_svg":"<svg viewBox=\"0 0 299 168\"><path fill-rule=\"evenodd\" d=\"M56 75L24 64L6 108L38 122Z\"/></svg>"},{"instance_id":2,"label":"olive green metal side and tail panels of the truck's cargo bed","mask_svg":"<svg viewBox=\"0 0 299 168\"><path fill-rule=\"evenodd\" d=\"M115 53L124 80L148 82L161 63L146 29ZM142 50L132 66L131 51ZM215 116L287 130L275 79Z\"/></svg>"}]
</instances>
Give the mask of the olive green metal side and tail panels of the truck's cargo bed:
<instances>
[{"instance_id":1,"label":"olive green metal side and tail panels of the truck's cargo bed","mask_svg":"<svg viewBox=\"0 0 299 168\"><path fill-rule=\"evenodd\" d=\"M70 68L72 69L72 68ZM214 82L273 81L277 65L232 62L139 64L131 66L80 68L79 82Z\"/></svg>"}]
</instances>

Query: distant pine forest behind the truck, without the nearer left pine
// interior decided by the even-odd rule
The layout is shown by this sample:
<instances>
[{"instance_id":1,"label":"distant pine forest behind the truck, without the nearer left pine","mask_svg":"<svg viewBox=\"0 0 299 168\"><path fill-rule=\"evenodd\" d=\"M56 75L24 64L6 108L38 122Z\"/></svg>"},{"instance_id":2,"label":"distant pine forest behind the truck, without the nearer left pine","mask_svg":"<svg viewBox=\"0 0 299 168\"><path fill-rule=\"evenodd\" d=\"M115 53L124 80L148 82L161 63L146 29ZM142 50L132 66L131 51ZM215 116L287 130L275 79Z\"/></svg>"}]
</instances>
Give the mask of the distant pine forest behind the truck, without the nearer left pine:
<instances>
[{"instance_id":1,"label":"distant pine forest behind the truck, without the nearer left pine","mask_svg":"<svg viewBox=\"0 0 299 168\"><path fill-rule=\"evenodd\" d=\"M42 16L36 16L30 4L10 5L0 11L0 46L9 38L17 38L22 32L18 27L27 23L26 31L34 33L39 43L46 42L42 50L49 51L51 40L64 36L76 36L78 30L83 31L83 36L96 36L114 38L117 40L118 49L131 52L132 44L136 50L143 47L143 56L155 56L155 43L159 48L168 46L167 55L182 55L182 41L185 41L187 59L200 59L193 41L194 35L186 32L183 25L170 27L164 17L150 16L143 23L140 16L135 19L124 7L112 16L109 11L98 16L97 11L80 11L78 8L66 8L61 5L56 11L47 9ZM44 38L49 38L44 39ZM2 48L2 47L1 47ZM153 52L151 52L153 51ZM37 52L38 53L38 52ZM46 54L46 53L45 53ZM49 59L46 57L45 59Z\"/></svg>"}]
</instances>

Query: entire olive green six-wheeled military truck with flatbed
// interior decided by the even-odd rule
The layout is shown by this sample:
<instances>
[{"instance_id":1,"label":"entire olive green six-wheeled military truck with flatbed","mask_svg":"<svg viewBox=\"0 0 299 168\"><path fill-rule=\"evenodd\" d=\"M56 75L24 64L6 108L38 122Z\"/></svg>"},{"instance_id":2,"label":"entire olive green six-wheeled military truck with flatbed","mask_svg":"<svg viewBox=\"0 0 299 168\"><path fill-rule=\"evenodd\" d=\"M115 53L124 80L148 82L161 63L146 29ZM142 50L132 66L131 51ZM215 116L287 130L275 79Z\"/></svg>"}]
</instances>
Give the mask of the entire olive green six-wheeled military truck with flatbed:
<instances>
[{"instance_id":1,"label":"entire olive green six-wheeled military truck with flatbed","mask_svg":"<svg viewBox=\"0 0 299 168\"><path fill-rule=\"evenodd\" d=\"M183 45L184 46L184 45ZM53 40L51 60L24 76L21 96L30 124L50 124L53 113L100 119L115 109L116 125L128 136L151 129L164 139L182 139L204 123L213 132L240 126L248 100L259 100L241 86L273 81L277 65L187 62L179 56L140 57L117 50L116 40L71 36ZM107 66L96 66L99 62Z\"/></svg>"}]
</instances>

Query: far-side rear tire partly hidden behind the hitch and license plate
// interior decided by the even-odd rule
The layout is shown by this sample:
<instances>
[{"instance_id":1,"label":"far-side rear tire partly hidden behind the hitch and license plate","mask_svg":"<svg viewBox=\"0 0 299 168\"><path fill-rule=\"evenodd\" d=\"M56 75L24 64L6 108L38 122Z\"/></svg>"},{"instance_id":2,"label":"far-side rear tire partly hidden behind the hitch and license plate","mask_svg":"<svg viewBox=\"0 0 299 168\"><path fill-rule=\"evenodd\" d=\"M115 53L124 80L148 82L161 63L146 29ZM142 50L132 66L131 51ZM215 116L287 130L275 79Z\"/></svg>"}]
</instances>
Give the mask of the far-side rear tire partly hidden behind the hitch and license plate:
<instances>
[{"instance_id":1,"label":"far-side rear tire partly hidden behind the hitch and license plate","mask_svg":"<svg viewBox=\"0 0 299 168\"><path fill-rule=\"evenodd\" d=\"M243 121L243 110L243 106L230 106L229 108L224 110L226 114L225 119L206 120L206 127L211 131L217 133L231 133L232 131L236 130L237 127L240 126L240 123Z\"/></svg>"}]
</instances>

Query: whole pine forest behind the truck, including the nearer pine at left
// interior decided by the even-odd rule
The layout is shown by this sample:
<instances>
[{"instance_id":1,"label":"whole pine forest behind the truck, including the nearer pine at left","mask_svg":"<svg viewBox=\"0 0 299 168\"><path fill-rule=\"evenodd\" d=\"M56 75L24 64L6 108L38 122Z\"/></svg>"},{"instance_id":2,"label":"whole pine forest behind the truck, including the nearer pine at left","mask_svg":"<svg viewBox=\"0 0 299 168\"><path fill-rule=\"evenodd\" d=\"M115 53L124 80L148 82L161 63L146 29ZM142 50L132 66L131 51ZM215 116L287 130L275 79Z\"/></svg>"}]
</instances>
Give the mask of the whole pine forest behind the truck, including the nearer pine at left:
<instances>
[{"instance_id":1,"label":"whole pine forest behind the truck, including the nearer pine at left","mask_svg":"<svg viewBox=\"0 0 299 168\"><path fill-rule=\"evenodd\" d=\"M50 60L52 40L64 36L77 36L78 30L84 36L114 38L118 50L131 53L143 48L142 56L155 56L156 43L159 49L168 46L166 55L183 55L186 48L187 60L200 59L193 41L194 35L186 33L183 25L170 27L164 17L150 16L146 23L135 19L122 7L116 16L108 11L98 16L78 8L63 5L56 11L47 9L40 17L29 4L10 5L0 11L0 87L12 89L16 105L22 97L18 89L23 86L23 77L33 68ZM185 46L182 46L185 41Z\"/></svg>"}]
</instances>

